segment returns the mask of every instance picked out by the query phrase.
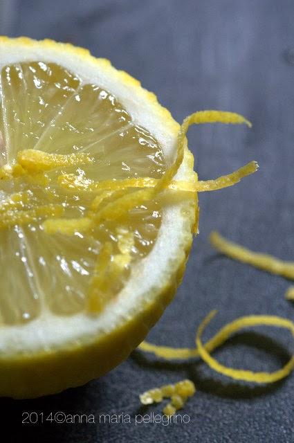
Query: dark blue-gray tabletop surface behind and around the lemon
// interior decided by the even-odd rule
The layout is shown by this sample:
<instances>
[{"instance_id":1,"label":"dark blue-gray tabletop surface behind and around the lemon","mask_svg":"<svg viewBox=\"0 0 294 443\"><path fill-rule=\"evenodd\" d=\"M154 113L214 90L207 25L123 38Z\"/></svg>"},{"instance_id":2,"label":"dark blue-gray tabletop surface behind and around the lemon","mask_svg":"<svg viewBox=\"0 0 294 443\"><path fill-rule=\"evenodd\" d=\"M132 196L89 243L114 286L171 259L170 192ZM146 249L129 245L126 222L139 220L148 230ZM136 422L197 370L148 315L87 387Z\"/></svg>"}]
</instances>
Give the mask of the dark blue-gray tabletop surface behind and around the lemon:
<instances>
[{"instance_id":1,"label":"dark blue-gray tabletop surface behind and around the lemon","mask_svg":"<svg viewBox=\"0 0 294 443\"><path fill-rule=\"evenodd\" d=\"M6 17L3 10L6 6ZM1 8L3 9L1 11ZM200 235L174 302L149 334L169 345L193 345L196 325L211 309L205 332L246 314L293 318L284 300L289 282L233 262L212 250L211 230L257 251L293 260L293 0L23 0L1 3L0 31L50 37L85 46L154 91L176 120L199 109L244 114L246 127L190 129L200 179L226 174L256 159L260 170L234 188L200 196ZM227 365L276 370L292 352L292 338L277 329L238 334L216 352ZM95 364L95 362L93 362ZM196 395L183 413L190 424L46 424L22 426L21 414L150 413L138 394L190 377ZM135 352L100 380L60 395L0 401L1 429L10 423L21 441L42 442L294 442L293 375L273 386L235 383L204 363L158 363Z\"/></svg>"}]
</instances>

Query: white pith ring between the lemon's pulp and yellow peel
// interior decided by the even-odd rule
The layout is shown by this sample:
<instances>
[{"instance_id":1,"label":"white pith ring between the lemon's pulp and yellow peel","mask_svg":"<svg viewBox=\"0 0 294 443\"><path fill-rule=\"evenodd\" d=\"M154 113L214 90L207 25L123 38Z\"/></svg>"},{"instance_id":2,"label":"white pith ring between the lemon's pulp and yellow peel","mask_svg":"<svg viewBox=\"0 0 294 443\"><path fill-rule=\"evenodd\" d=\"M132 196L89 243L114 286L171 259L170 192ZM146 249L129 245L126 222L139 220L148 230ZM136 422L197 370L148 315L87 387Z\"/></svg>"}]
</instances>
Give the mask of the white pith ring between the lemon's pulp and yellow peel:
<instances>
[{"instance_id":1,"label":"white pith ring between the lemon's pulp and yellow peel","mask_svg":"<svg viewBox=\"0 0 294 443\"><path fill-rule=\"evenodd\" d=\"M129 82L122 82L120 73L105 62L99 65L95 60L52 47L34 44L32 46L0 43L0 71L7 64L19 62L55 62L76 73L84 83L98 84L111 92L131 114L136 124L142 125L160 143L167 161L171 161L176 150L177 127L167 124L158 105L147 100L143 89ZM176 179L192 180L194 174L186 156L178 170ZM19 352L38 352L63 346L65 343L91 341L123 323L135 311L143 309L144 303L169 281L183 260L187 236L191 235L189 217L183 215L189 204L182 202L163 210L162 224L158 239L151 253L139 261L131 271L126 286L113 302L109 302L102 314L89 316L55 316L44 311L42 316L25 325L0 328L0 352L6 356Z\"/></svg>"}]
</instances>

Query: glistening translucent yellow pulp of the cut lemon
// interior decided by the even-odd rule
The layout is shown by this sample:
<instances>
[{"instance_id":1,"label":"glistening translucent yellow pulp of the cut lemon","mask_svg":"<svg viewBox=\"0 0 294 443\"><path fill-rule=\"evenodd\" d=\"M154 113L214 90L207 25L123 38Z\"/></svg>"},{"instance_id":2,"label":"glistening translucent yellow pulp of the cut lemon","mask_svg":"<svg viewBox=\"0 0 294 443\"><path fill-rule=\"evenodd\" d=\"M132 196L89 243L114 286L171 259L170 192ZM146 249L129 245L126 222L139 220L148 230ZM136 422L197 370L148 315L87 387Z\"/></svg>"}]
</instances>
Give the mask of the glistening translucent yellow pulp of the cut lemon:
<instances>
[{"instance_id":1,"label":"glistening translucent yellow pulp of the cut lemon","mask_svg":"<svg viewBox=\"0 0 294 443\"><path fill-rule=\"evenodd\" d=\"M160 179L161 147L111 93L55 63L3 67L0 104L0 323L100 311L151 251L161 206L95 219L126 190L62 183Z\"/></svg>"}]
</instances>

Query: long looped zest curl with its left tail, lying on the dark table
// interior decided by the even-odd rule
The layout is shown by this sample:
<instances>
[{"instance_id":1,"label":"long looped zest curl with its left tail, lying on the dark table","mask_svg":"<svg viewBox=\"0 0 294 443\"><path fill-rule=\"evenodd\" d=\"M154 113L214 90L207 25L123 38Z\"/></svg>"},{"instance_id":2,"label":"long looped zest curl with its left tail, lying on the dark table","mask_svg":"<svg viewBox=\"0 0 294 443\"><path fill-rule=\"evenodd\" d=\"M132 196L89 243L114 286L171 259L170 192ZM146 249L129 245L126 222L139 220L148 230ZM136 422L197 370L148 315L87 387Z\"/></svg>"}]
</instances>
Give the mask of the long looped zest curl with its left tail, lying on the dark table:
<instances>
[{"instance_id":1,"label":"long looped zest curl with its left tail, lying on the dark table","mask_svg":"<svg viewBox=\"0 0 294 443\"><path fill-rule=\"evenodd\" d=\"M244 327L252 326L275 326L289 329L294 336L294 323L286 318L277 316L245 316L237 318L237 320L228 323L228 325L221 328L221 330L215 334L205 345L201 342L201 335L205 327L210 323L210 320L215 316L217 311L212 311L201 323L196 333L196 347L195 348L173 348L165 346L157 346L151 343L143 341L140 343L139 348L145 352L151 352L156 356L162 357L166 360L181 359L186 360L192 357L201 357L210 368L220 372L227 377L231 377L235 380L252 381L254 383L274 383L288 374L294 368L294 356L291 360L284 365L284 368L277 370L276 372L252 372L249 370L237 370L234 368L227 368L221 365L218 361L212 358L210 352L221 346L232 334L243 329Z\"/></svg>"}]
</instances>

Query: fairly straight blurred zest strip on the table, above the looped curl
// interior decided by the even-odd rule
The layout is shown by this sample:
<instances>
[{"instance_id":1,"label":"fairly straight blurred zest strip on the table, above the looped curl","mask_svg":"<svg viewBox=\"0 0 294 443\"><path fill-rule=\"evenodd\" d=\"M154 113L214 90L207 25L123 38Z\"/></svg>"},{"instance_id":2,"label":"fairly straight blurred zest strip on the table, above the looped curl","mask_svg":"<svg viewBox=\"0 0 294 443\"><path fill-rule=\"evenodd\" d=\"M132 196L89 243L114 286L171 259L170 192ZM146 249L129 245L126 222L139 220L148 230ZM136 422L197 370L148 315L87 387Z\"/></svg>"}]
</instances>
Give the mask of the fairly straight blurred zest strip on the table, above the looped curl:
<instances>
[{"instance_id":1,"label":"fairly straight blurred zest strip on the table, above the looped curl","mask_svg":"<svg viewBox=\"0 0 294 443\"><path fill-rule=\"evenodd\" d=\"M244 246L229 242L217 232L210 234L210 243L217 251L234 260L294 280L294 262L286 262L273 257L273 255L250 251Z\"/></svg>"}]
</instances>

